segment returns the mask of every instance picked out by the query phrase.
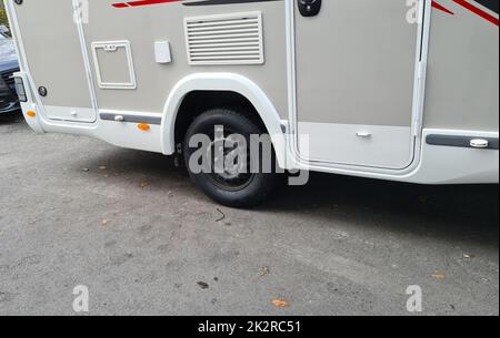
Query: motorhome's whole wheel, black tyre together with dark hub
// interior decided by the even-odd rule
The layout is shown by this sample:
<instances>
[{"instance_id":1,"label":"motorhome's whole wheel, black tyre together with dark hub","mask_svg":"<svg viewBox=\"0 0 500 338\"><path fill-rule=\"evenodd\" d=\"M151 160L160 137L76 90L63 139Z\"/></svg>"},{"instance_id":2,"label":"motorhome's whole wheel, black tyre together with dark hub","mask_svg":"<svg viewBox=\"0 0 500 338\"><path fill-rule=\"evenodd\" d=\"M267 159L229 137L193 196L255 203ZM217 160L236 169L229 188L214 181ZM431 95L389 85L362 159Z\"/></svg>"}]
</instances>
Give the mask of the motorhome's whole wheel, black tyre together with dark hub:
<instances>
[{"instance_id":1,"label":"motorhome's whole wheel, black tyre together with dark hub","mask_svg":"<svg viewBox=\"0 0 500 338\"><path fill-rule=\"evenodd\" d=\"M204 142L193 141L193 136L200 135L204 135ZM251 135L262 136L267 132L243 113L229 109L207 111L188 129L183 154L189 174L209 197L222 205L254 206L263 202L277 185L272 146L269 147L270 157L263 156L263 147L258 152L251 151ZM241 147L241 144L247 147ZM263 158L272 162L266 171L262 170ZM254 163L260 165L252 165Z\"/></svg>"}]
</instances>

